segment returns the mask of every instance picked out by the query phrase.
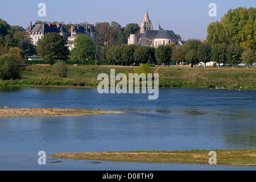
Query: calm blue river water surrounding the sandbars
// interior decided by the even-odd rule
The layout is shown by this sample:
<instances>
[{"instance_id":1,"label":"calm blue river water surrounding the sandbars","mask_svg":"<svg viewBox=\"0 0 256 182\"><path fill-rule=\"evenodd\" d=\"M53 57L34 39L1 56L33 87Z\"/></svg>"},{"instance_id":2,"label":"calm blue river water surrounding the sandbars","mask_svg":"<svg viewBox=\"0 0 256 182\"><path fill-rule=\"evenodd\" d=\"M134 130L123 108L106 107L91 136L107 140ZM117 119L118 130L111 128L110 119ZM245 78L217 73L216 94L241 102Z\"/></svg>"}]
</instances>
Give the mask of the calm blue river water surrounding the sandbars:
<instances>
[{"instance_id":1,"label":"calm blue river water surrounding the sandbars","mask_svg":"<svg viewBox=\"0 0 256 182\"><path fill-rule=\"evenodd\" d=\"M160 89L147 94L98 94L96 88L0 87L0 107L121 110L86 117L0 118L0 170L255 170L200 164L101 162L48 158L38 151L190 150L256 147L256 91Z\"/></svg>"}]
</instances>

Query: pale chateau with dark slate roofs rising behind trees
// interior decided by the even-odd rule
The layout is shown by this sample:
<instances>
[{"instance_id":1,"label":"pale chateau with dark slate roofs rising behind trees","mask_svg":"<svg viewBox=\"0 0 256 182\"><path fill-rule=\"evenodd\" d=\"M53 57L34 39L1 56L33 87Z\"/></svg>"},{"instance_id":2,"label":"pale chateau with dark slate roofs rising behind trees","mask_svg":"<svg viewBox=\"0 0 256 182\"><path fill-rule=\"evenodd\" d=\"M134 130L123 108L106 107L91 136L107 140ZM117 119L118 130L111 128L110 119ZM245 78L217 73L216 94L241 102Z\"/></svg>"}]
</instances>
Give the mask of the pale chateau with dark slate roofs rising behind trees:
<instances>
[{"instance_id":1,"label":"pale chateau with dark slate roofs rising behind trees","mask_svg":"<svg viewBox=\"0 0 256 182\"><path fill-rule=\"evenodd\" d=\"M30 38L32 40L32 44L34 46L37 45L38 40L42 39L44 34L56 32L61 36L64 36L65 39L68 40L68 46L72 46L77 35L87 35L89 38L92 38L95 42L96 35L92 24L86 26L80 26L76 24L75 26L71 26L71 30L67 31L60 23L51 24L51 23L42 23L42 24L34 24L30 22L30 30L28 33L30 34Z\"/></svg>"}]
</instances>

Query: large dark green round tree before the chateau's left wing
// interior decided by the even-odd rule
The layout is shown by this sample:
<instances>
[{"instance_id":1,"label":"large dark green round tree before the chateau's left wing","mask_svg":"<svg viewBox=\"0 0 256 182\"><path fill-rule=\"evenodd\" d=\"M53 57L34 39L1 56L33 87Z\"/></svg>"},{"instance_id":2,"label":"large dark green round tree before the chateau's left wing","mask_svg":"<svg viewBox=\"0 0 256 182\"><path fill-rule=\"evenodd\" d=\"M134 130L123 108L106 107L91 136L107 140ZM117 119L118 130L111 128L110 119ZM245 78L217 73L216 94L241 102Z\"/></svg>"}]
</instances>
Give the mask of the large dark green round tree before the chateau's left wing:
<instances>
[{"instance_id":1,"label":"large dark green round tree before the chateau's left wing","mask_svg":"<svg viewBox=\"0 0 256 182\"><path fill-rule=\"evenodd\" d=\"M38 55L53 65L54 60L67 60L69 49L63 36L52 32L45 34L36 48Z\"/></svg>"}]
</instances>

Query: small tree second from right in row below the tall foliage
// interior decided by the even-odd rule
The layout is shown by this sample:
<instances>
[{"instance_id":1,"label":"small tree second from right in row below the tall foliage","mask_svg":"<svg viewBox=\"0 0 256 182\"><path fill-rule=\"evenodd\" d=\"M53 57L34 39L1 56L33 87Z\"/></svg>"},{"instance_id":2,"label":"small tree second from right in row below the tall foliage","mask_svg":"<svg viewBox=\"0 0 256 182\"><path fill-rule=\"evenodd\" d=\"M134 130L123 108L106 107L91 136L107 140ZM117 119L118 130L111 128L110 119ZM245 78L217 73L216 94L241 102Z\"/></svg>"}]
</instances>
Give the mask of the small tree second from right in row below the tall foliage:
<instances>
[{"instance_id":1,"label":"small tree second from right in row below the tall foliage","mask_svg":"<svg viewBox=\"0 0 256 182\"><path fill-rule=\"evenodd\" d=\"M233 65L232 68L234 68L234 64L241 63L241 50L236 44L230 44L228 46L226 55L228 63Z\"/></svg>"}]
</instances>

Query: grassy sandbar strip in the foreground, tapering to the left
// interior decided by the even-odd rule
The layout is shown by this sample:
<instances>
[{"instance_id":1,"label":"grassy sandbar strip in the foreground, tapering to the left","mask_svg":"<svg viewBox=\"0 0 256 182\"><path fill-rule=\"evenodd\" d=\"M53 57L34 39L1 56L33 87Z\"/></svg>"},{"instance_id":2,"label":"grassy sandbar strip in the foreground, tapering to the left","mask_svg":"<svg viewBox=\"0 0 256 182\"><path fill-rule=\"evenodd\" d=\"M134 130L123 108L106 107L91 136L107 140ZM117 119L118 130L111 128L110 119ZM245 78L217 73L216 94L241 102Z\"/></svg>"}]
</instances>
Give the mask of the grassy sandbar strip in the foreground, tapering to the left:
<instances>
[{"instance_id":1,"label":"grassy sandbar strip in the foreground, tapering to the left","mask_svg":"<svg viewBox=\"0 0 256 182\"><path fill-rule=\"evenodd\" d=\"M217 164L256 166L256 149L214 150ZM56 153L53 158L152 163L209 164L210 150Z\"/></svg>"}]
</instances>

